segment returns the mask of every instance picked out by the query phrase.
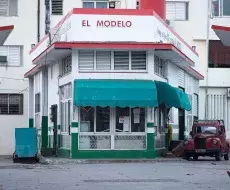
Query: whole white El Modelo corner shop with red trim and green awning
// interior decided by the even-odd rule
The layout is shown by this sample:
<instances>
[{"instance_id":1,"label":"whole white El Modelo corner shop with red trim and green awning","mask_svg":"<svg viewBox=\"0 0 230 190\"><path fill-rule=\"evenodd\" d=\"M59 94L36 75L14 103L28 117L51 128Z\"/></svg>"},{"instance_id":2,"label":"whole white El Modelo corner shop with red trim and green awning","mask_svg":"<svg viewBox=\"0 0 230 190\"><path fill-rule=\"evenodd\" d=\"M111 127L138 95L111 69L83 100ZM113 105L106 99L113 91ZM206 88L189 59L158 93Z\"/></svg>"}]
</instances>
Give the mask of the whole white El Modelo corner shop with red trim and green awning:
<instances>
[{"instance_id":1,"label":"whole white El Modelo corner shop with red trim and green awning","mask_svg":"<svg viewBox=\"0 0 230 190\"><path fill-rule=\"evenodd\" d=\"M198 116L198 55L151 9L74 8L30 56L29 123L41 151L154 158L169 123L182 140Z\"/></svg>"}]
</instances>

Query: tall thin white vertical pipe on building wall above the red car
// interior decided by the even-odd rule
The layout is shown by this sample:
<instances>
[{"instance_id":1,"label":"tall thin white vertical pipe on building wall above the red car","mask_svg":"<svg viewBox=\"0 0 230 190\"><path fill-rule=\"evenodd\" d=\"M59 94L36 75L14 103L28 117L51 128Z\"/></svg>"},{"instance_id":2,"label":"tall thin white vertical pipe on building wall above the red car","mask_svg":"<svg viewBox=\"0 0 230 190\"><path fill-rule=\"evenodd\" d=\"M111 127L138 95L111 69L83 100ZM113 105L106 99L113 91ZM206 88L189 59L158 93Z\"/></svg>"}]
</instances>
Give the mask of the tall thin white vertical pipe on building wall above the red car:
<instances>
[{"instance_id":1,"label":"tall thin white vertical pipe on building wall above the red car","mask_svg":"<svg viewBox=\"0 0 230 190\"><path fill-rule=\"evenodd\" d=\"M208 65L209 65L209 32L211 18L211 1L208 0L207 7L207 34L206 34L206 75L205 75L205 119L208 119Z\"/></svg>"}]
</instances>

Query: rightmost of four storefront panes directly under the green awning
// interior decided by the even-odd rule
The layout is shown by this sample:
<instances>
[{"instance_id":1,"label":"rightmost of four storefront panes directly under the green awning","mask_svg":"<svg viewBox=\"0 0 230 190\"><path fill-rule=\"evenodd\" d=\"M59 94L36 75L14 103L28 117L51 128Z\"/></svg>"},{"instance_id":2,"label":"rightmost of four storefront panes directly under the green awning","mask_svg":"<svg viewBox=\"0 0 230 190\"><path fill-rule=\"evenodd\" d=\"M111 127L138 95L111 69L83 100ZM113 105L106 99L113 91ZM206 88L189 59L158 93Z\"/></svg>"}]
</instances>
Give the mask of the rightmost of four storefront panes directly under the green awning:
<instances>
[{"instance_id":1,"label":"rightmost of four storefront panes directly under the green awning","mask_svg":"<svg viewBox=\"0 0 230 190\"><path fill-rule=\"evenodd\" d=\"M132 108L131 109L131 131L145 132L145 109Z\"/></svg>"}]
</instances>

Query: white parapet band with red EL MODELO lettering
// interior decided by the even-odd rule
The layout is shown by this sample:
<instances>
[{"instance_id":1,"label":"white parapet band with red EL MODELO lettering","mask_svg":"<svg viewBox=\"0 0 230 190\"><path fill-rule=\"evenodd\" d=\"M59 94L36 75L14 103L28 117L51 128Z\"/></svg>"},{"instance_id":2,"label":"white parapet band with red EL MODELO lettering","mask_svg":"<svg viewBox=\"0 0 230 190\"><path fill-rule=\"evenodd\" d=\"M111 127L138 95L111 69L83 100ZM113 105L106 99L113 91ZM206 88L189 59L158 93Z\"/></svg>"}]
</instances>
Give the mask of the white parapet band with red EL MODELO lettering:
<instances>
[{"instance_id":1,"label":"white parapet band with red EL MODELO lettering","mask_svg":"<svg viewBox=\"0 0 230 190\"><path fill-rule=\"evenodd\" d=\"M58 32L59 41L68 42L156 42L171 43L193 62L198 56L185 42L154 16L73 14ZM42 53L46 39L32 53L34 60ZM45 43L45 46L43 46Z\"/></svg>"}]
</instances>

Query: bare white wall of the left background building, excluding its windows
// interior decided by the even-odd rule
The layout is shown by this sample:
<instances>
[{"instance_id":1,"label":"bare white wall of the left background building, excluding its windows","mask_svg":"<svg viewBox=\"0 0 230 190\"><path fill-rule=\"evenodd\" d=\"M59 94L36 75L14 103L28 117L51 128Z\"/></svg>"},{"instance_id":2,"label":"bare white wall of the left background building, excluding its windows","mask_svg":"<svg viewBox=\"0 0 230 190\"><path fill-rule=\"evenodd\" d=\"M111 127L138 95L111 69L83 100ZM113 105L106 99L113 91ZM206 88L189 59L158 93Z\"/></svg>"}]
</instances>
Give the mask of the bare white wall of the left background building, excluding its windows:
<instances>
[{"instance_id":1,"label":"bare white wall of the left background building, excluding its windows","mask_svg":"<svg viewBox=\"0 0 230 190\"><path fill-rule=\"evenodd\" d=\"M41 1L41 5L44 3ZM31 44L37 42L37 1L19 0L17 17L0 16L0 26L14 25L14 30L5 45L23 46L23 65L20 67L0 67L0 77L24 79L24 74L31 67L28 55ZM42 12L41 9L41 17ZM9 80L0 78L0 93L19 93L29 87L28 80ZM12 155L14 152L14 129L28 127L28 90L23 91L23 115L0 115L0 155Z\"/></svg>"}]
</instances>

